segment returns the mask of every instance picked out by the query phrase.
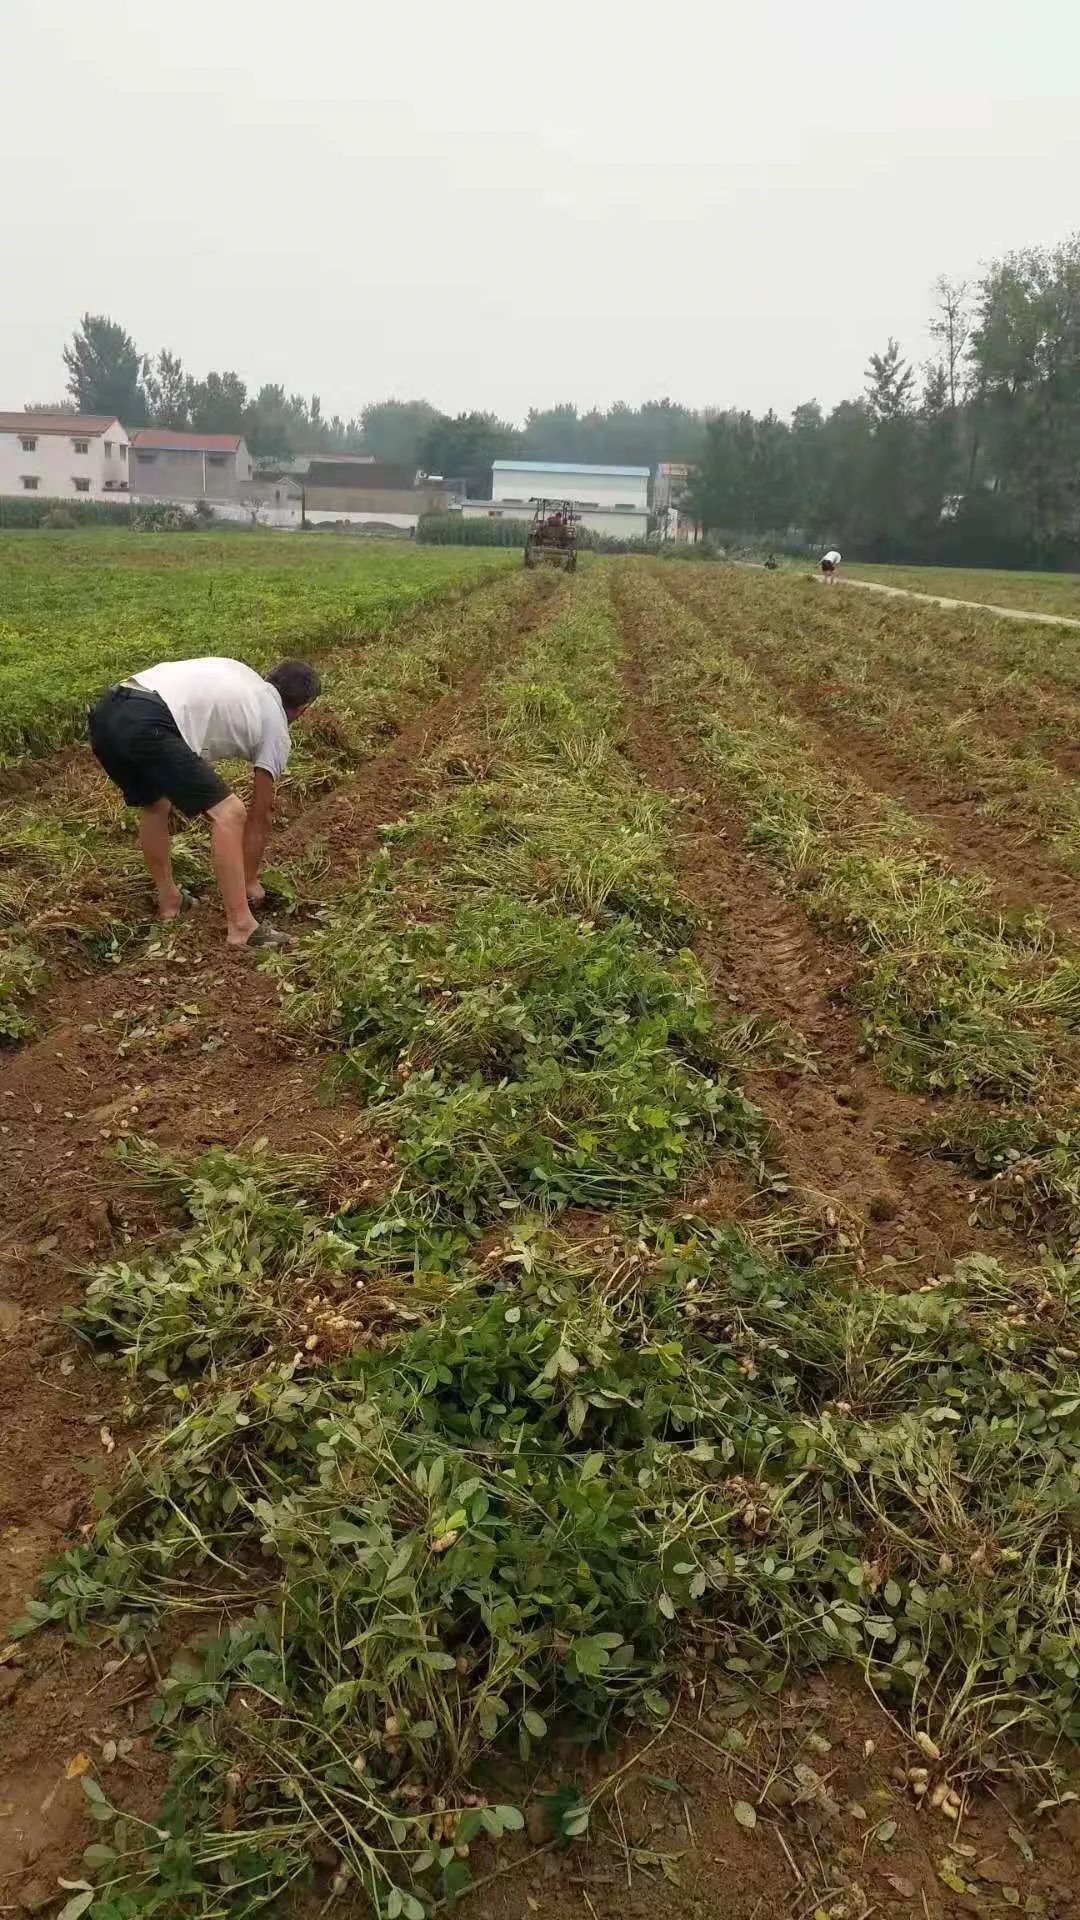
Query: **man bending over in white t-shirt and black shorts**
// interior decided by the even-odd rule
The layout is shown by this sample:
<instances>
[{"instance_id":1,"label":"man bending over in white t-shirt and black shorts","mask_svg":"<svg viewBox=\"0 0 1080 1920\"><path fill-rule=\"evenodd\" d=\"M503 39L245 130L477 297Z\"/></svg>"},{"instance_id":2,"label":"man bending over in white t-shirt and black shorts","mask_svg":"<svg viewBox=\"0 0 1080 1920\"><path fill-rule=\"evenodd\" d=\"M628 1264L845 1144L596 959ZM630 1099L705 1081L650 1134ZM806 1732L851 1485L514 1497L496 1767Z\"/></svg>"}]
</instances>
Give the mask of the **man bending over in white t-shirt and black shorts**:
<instances>
[{"instance_id":1,"label":"man bending over in white t-shirt and black shorts","mask_svg":"<svg viewBox=\"0 0 1080 1920\"><path fill-rule=\"evenodd\" d=\"M140 808L138 843L161 920L175 920L183 906L169 847L175 806L188 820L209 820L227 945L288 947L288 935L259 925L252 908L265 900L259 866L292 747L288 726L317 693L319 676L306 660L282 660L265 680L240 660L165 660L110 687L90 708L90 747L127 806ZM213 760L252 762L250 810Z\"/></svg>"}]
</instances>

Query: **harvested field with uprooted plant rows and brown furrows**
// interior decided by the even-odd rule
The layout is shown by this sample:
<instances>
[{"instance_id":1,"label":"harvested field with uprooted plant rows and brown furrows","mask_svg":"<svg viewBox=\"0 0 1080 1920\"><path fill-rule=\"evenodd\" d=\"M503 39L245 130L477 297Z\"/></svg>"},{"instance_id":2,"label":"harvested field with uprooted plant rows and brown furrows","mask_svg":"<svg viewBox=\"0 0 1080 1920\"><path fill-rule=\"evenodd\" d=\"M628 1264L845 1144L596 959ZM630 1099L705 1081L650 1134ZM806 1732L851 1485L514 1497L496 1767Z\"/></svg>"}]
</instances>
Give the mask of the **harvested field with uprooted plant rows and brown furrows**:
<instances>
[{"instance_id":1,"label":"harvested field with uprooted plant rows and brown furrows","mask_svg":"<svg viewBox=\"0 0 1080 1920\"><path fill-rule=\"evenodd\" d=\"M609 1920L626 1876L659 1920L767 1878L807 1920L1065 1912L1070 636L298 540L211 545L211 611L194 540L121 549L115 601L100 551L102 612L146 568L177 645L348 605L267 874L292 948L238 972L204 870L63 1050L12 987L4 1797L85 1797L69 1920L563 1920L586 1878ZM40 968L60 812L0 820ZM92 1732L46 1764L67 1638Z\"/></svg>"}]
</instances>

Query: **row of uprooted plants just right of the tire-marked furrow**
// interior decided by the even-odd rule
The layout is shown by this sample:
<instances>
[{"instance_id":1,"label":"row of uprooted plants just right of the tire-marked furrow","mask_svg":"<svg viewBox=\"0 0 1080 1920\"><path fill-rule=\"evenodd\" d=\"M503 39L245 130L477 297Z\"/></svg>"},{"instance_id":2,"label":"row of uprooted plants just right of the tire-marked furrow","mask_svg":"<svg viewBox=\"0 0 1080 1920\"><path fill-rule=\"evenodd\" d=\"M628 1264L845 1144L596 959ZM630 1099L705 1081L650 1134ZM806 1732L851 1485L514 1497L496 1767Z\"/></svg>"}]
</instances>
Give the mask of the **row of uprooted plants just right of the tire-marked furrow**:
<instances>
[{"instance_id":1,"label":"row of uprooted plants just right of the tire-marked furrow","mask_svg":"<svg viewBox=\"0 0 1080 1920\"><path fill-rule=\"evenodd\" d=\"M698 716L698 751L753 845L859 956L847 1000L882 1075L959 1096L930 1108L926 1144L999 1173L986 1204L1068 1252L1080 1238L1080 954L1042 916L1038 889L1026 912L1005 914L994 877L955 866L917 814L859 776L857 756L828 758L819 730L792 712L786 653L780 685L769 678L780 647L763 636L771 622L784 630L788 607L771 584L742 580L732 605L707 586L690 593L694 611L671 605L665 701ZM834 659L846 639L842 614Z\"/></svg>"}]
</instances>

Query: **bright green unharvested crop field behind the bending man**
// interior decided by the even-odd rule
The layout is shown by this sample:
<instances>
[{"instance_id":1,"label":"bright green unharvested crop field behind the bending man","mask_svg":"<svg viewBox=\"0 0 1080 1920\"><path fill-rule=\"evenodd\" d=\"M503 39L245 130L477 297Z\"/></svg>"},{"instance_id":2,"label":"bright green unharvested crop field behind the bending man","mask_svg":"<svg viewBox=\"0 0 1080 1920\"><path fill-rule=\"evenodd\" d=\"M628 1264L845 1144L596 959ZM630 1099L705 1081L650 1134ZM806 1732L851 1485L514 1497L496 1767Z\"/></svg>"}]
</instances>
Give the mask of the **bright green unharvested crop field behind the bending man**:
<instances>
[{"instance_id":1,"label":"bright green unharvested crop field behind the bending man","mask_svg":"<svg viewBox=\"0 0 1080 1920\"><path fill-rule=\"evenodd\" d=\"M319 534L0 534L0 762L75 737L100 687L154 660L315 655L513 563Z\"/></svg>"}]
</instances>

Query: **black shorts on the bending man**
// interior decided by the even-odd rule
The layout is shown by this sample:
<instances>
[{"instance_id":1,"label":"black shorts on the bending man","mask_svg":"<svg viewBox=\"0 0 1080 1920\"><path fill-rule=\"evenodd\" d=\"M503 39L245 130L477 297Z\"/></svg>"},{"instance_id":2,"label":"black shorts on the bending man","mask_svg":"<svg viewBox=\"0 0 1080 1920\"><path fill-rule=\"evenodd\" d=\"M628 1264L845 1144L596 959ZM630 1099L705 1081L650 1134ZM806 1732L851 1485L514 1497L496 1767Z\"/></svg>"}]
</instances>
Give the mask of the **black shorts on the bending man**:
<instances>
[{"instance_id":1,"label":"black shorts on the bending man","mask_svg":"<svg viewBox=\"0 0 1080 1920\"><path fill-rule=\"evenodd\" d=\"M194 820L229 799L221 774L192 753L160 693L110 687L90 707L90 747L129 806L171 801Z\"/></svg>"}]
</instances>

